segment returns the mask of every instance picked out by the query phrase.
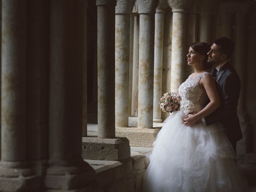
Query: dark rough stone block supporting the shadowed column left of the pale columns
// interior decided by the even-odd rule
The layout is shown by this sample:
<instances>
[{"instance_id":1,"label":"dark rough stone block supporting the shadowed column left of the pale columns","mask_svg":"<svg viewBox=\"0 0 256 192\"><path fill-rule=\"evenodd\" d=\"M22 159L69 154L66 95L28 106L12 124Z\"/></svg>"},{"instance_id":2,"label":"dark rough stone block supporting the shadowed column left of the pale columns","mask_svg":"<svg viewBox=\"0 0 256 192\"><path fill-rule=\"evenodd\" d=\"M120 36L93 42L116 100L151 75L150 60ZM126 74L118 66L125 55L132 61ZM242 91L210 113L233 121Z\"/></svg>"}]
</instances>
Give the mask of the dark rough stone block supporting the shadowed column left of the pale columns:
<instances>
[{"instance_id":1,"label":"dark rough stone block supporting the shadowed column left of the pale columns","mask_svg":"<svg viewBox=\"0 0 256 192\"><path fill-rule=\"evenodd\" d=\"M130 157L127 138L82 138L82 158L89 160L120 161Z\"/></svg>"}]
</instances>

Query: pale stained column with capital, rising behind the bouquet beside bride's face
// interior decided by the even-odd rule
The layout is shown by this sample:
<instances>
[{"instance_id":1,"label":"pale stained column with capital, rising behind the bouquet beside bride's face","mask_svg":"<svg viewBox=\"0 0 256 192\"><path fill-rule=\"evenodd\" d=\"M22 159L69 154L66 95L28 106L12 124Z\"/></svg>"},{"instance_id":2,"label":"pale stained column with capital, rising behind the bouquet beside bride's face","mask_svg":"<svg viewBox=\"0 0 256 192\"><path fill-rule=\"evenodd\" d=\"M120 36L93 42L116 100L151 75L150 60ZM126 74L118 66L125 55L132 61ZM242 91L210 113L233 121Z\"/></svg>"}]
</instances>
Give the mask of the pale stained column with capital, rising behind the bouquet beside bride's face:
<instances>
[{"instance_id":1,"label":"pale stained column with capital, rising behind the bouquet beside bride's face","mask_svg":"<svg viewBox=\"0 0 256 192\"><path fill-rule=\"evenodd\" d=\"M178 92L180 84L184 81L186 65L186 10L192 2L188 0L168 0L172 8L171 91L174 92Z\"/></svg>"}]
</instances>

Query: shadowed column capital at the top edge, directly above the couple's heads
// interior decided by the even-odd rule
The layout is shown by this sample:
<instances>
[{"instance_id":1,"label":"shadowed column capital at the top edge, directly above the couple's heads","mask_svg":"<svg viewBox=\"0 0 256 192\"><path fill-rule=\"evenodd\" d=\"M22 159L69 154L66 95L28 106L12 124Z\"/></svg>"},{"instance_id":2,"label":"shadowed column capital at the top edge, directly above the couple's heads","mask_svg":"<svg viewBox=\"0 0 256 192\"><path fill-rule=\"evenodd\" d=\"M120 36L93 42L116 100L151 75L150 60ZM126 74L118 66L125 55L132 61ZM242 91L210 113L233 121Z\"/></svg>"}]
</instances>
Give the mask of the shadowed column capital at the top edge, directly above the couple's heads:
<instances>
[{"instance_id":1,"label":"shadowed column capital at the top edge, directly above the couple's heads","mask_svg":"<svg viewBox=\"0 0 256 192\"><path fill-rule=\"evenodd\" d=\"M218 15L220 0L198 0L198 13Z\"/></svg>"}]
</instances>

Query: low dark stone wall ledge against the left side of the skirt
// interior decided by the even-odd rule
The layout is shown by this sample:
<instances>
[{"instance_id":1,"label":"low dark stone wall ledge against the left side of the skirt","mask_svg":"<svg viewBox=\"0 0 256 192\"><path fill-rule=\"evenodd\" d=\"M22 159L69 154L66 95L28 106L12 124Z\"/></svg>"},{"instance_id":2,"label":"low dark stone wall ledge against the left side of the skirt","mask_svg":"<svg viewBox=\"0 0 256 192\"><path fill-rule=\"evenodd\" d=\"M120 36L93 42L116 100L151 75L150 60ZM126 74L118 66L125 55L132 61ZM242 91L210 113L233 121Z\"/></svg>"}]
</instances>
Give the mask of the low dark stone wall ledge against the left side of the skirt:
<instances>
[{"instance_id":1,"label":"low dark stone wall ledge against the left side of the skirt","mask_svg":"<svg viewBox=\"0 0 256 192\"><path fill-rule=\"evenodd\" d=\"M94 168L96 179L104 191L140 192L148 166L144 154L131 152L131 158L122 161L85 160Z\"/></svg>"}]
</instances>

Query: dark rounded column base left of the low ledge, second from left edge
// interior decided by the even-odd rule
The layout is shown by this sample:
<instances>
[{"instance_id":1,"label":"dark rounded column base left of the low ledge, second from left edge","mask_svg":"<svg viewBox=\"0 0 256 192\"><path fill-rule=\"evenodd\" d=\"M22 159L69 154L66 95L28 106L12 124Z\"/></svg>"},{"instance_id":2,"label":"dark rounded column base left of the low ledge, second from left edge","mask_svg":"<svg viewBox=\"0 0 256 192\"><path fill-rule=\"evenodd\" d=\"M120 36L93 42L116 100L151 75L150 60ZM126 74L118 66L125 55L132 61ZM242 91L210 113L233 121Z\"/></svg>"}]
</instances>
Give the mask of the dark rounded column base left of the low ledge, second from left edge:
<instances>
[{"instance_id":1,"label":"dark rounded column base left of the low ledge, second from left edge","mask_svg":"<svg viewBox=\"0 0 256 192\"><path fill-rule=\"evenodd\" d=\"M93 183L93 186L98 186L95 182L96 173L94 169L83 160L78 161L74 166L56 164L58 162L54 162L46 170L44 186L48 189L47 192L84 192L88 188L92 188Z\"/></svg>"}]
</instances>

